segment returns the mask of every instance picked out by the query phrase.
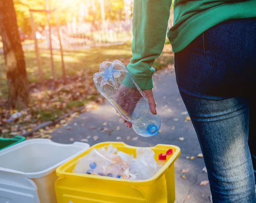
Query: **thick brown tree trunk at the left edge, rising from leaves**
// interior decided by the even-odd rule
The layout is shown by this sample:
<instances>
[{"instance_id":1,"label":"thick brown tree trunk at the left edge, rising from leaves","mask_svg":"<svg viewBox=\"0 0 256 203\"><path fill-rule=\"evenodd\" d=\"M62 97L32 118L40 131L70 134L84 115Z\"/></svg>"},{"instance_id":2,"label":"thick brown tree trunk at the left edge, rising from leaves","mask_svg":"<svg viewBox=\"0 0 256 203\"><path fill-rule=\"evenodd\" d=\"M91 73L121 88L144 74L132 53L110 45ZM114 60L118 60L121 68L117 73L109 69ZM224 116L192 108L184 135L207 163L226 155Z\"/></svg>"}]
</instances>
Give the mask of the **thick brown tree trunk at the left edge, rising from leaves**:
<instances>
[{"instance_id":1,"label":"thick brown tree trunk at the left edge, rising from leaves","mask_svg":"<svg viewBox=\"0 0 256 203\"><path fill-rule=\"evenodd\" d=\"M25 108L29 103L26 64L12 0L0 0L0 34L3 41L9 105L14 109Z\"/></svg>"}]
</instances>

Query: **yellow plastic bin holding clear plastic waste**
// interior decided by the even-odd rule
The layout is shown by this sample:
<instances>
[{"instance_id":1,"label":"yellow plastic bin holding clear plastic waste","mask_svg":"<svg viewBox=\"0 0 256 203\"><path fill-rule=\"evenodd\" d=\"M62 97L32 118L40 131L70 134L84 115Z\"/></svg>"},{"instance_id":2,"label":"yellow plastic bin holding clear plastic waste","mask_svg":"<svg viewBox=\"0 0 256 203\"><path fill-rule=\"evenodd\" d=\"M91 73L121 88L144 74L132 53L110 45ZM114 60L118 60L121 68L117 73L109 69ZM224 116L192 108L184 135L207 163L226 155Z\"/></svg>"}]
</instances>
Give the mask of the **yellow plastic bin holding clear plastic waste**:
<instances>
[{"instance_id":1,"label":"yellow plastic bin holding clear plastic waste","mask_svg":"<svg viewBox=\"0 0 256 203\"><path fill-rule=\"evenodd\" d=\"M158 144L151 149L158 154L172 149L166 164L150 179L132 181L98 175L73 173L79 158L91 149L113 144L122 152L136 156L137 147L122 142L103 142L96 144L56 169L59 177L55 182L58 203L174 203L175 178L174 162L180 155L180 148L174 145Z\"/></svg>"}]
</instances>

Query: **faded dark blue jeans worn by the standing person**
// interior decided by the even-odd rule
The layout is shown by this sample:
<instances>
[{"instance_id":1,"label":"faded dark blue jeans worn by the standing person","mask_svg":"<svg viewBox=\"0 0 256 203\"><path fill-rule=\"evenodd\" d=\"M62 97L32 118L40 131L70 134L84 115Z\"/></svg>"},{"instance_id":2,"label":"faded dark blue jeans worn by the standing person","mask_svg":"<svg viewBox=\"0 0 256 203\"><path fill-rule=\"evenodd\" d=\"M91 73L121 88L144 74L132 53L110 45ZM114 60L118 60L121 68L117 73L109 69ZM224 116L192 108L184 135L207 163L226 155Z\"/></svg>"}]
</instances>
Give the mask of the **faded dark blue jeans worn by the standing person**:
<instances>
[{"instance_id":1,"label":"faded dark blue jeans worn by the standing person","mask_svg":"<svg viewBox=\"0 0 256 203\"><path fill-rule=\"evenodd\" d=\"M256 18L205 31L175 53L175 71L213 202L256 203Z\"/></svg>"}]
</instances>

